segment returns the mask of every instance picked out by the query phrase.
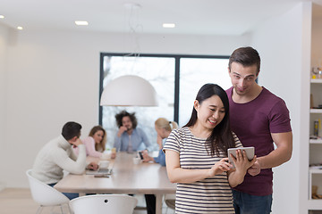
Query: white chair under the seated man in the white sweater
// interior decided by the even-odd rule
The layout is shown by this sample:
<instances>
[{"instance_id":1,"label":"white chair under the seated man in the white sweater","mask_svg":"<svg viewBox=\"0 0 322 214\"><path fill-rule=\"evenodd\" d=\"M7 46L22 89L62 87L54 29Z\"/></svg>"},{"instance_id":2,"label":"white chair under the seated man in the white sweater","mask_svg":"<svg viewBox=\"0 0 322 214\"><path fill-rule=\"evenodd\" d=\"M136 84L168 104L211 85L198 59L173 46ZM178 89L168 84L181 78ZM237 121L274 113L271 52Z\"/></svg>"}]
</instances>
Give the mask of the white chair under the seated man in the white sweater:
<instances>
[{"instance_id":1,"label":"white chair under the seated man in the white sweater","mask_svg":"<svg viewBox=\"0 0 322 214\"><path fill-rule=\"evenodd\" d=\"M62 213L64 213L62 207L63 204L67 204L69 212L72 213L69 208L69 198L67 198L64 193L60 193L50 185L47 185L35 177L32 177L31 171L32 169L27 170L26 175L29 180L32 198L40 205L36 213L40 213L44 207L54 206L60 206Z\"/></svg>"}]
</instances>

